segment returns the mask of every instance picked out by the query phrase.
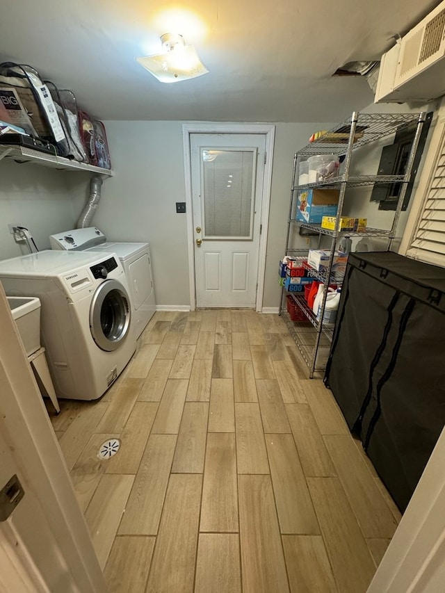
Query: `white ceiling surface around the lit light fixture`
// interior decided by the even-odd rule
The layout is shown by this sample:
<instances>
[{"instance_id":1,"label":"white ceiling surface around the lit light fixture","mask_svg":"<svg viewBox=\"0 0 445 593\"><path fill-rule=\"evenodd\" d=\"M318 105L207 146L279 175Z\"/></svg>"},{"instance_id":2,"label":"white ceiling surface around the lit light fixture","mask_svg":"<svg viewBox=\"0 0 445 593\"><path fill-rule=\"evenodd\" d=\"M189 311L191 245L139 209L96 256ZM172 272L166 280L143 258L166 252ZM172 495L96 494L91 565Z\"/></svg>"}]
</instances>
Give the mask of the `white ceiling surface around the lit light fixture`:
<instances>
[{"instance_id":1,"label":"white ceiling surface around the lit light fixture","mask_svg":"<svg viewBox=\"0 0 445 593\"><path fill-rule=\"evenodd\" d=\"M373 101L366 80L332 72L379 59L437 3L2 0L0 60L33 65L103 120L332 122ZM163 84L143 70L134 58L158 53L163 33L210 73Z\"/></svg>"}]
</instances>

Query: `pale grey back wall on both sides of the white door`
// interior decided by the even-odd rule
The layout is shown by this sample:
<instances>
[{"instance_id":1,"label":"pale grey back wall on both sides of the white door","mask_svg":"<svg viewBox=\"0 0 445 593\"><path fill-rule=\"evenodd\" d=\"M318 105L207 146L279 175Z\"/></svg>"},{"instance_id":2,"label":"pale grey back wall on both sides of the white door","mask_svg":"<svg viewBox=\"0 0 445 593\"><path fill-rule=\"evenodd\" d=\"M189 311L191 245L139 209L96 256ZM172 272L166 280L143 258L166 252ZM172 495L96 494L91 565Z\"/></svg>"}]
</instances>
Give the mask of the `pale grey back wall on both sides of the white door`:
<instances>
[{"instance_id":1,"label":"pale grey back wall on both sides of the white door","mask_svg":"<svg viewBox=\"0 0 445 593\"><path fill-rule=\"evenodd\" d=\"M149 241L156 302L188 305L186 216L182 124L106 122L115 177L106 179L93 224L110 239ZM264 307L277 307L278 261L284 254L293 154L326 124L277 124L266 257ZM83 191L80 186L79 190ZM76 214L83 206L78 199Z\"/></svg>"}]
</instances>

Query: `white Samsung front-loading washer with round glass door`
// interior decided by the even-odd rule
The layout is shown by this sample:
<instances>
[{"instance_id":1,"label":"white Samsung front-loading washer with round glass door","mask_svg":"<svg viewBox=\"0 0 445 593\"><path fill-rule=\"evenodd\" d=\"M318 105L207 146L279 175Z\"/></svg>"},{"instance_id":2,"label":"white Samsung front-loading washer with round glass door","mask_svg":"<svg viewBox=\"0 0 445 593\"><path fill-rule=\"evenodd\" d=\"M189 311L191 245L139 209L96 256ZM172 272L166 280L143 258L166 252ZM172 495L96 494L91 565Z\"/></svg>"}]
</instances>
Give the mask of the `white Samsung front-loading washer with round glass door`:
<instances>
[{"instance_id":1,"label":"white Samsung front-loading washer with round glass door","mask_svg":"<svg viewBox=\"0 0 445 593\"><path fill-rule=\"evenodd\" d=\"M45 250L0 261L7 295L36 296L58 398L94 400L136 350L127 278L115 254Z\"/></svg>"}]
</instances>

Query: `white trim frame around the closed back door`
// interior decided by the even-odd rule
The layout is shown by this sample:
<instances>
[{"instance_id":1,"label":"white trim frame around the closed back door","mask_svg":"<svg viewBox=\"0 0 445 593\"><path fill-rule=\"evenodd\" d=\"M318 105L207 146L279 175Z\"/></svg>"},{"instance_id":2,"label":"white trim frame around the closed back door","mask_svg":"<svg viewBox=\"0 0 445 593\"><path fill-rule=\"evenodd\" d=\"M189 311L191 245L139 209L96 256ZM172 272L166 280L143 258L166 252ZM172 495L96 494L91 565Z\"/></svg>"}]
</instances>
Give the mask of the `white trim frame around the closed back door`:
<instances>
[{"instance_id":1,"label":"white trim frame around the closed back door","mask_svg":"<svg viewBox=\"0 0 445 593\"><path fill-rule=\"evenodd\" d=\"M192 174L191 174L191 135L195 133L261 134L266 136L266 164L264 165L263 195L261 203L261 234L259 236L257 294L255 310L261 313L264 295L264 276L266 273L266 247L269 224L270 190L272 188L273 148L275 144L275 125L273 124L225 124L206 122L182 125L184 145L184 178L186 184L186 216L188 245L188 285L190 287L190 309L196 309L195 286L195 231L193 228Z\"/></svg>"}]
</instances>

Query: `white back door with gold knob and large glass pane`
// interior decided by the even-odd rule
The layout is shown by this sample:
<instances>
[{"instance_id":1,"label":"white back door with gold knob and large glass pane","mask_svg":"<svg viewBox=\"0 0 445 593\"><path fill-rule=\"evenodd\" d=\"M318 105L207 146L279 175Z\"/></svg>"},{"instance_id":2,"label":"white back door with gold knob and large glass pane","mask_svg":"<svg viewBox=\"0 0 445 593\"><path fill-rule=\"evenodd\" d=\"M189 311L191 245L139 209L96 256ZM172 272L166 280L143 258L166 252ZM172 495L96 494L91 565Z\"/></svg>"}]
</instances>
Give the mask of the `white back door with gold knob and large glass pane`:
<instances>
[{"instance_id":1,"label":"white back door with gold knob and large glass pane","mask_svg":"<svg viewBox=\"0 0 445 593\"><path fill-rule=\"evenodd\" d=\"M254 308L263 134L191 134L197 307Z\"/></svg>"}]
</instances>

